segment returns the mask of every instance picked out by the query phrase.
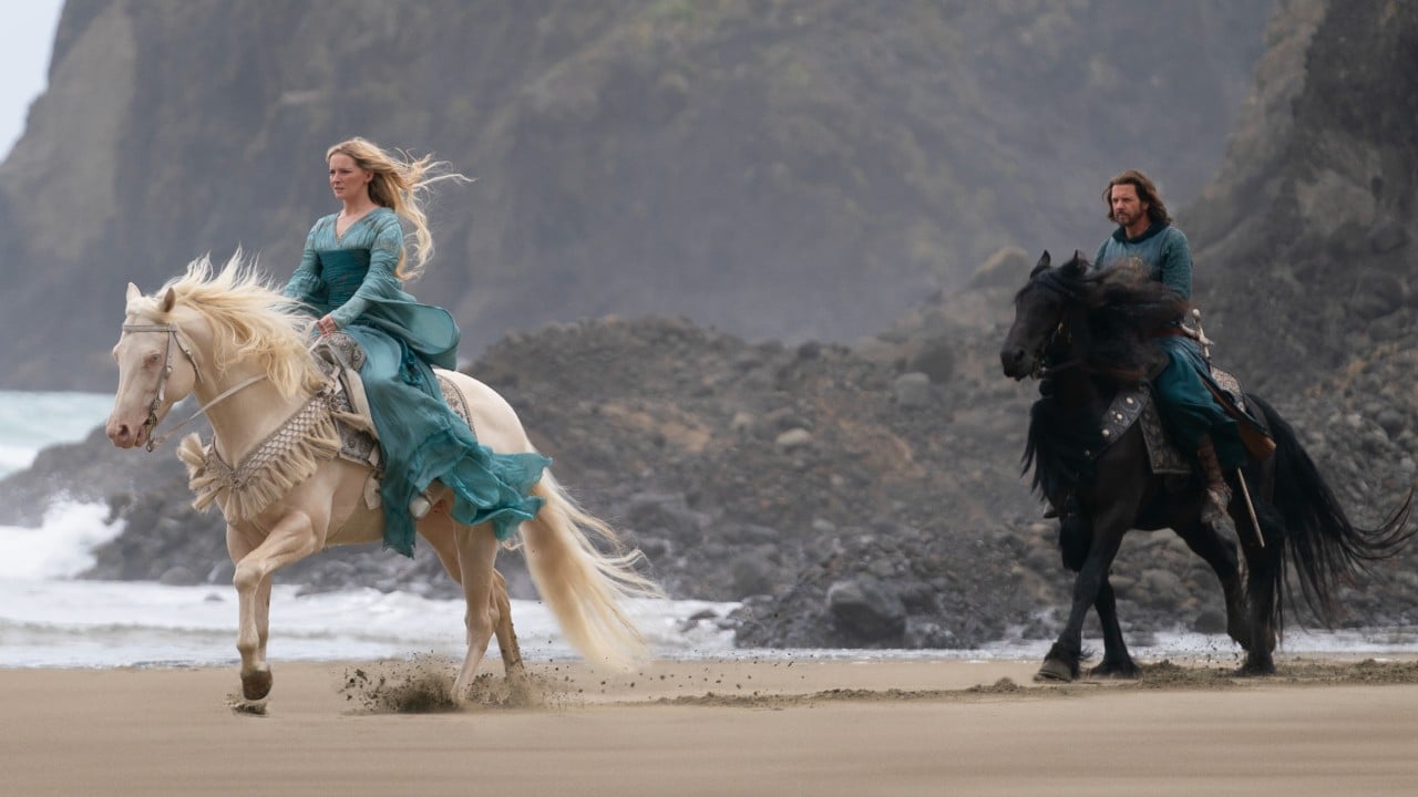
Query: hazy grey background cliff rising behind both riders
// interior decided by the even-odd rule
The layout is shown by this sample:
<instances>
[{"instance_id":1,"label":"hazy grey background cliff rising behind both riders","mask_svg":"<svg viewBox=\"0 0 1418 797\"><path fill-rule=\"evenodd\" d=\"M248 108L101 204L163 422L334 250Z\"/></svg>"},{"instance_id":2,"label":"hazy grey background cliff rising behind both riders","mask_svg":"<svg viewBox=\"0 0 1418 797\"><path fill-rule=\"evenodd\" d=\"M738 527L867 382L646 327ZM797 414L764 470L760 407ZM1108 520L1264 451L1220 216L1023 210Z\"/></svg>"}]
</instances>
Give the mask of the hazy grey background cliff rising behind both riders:
<instances>
[{"instance_id":1,"label":"hazy grey background cliff rising behind both riders","mask_svg":"<svg viewBox=\"0 0 1418 797\"><path fill-rule=\"evenodd\" d=\"M1001 245L1090 248L1124 166L1197 196L1272 6L71 0L0 165L0 386L109 389L128 281L284 278L350 135L476 177L413 285L468 359L613 312L852 340Z\"/></svg>"}]
</instances>

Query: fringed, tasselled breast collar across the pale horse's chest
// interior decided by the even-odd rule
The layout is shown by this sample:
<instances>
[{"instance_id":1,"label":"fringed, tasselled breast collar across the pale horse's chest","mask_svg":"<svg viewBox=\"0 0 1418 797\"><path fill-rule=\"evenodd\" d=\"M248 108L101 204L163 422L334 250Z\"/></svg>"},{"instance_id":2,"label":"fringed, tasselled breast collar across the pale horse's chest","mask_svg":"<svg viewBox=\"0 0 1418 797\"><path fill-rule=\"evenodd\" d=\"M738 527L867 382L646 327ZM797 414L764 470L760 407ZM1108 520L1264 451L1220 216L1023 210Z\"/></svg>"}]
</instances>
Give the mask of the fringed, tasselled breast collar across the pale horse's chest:
<instances>
[{"instance_id":1,"label":"fringed, tasselled breast collar across the pale horse's chest","mask_svg":"<svg viewBox=\"0 0 1418 797\"><path fill-rule=\"evenodd\" d=\"M311 478L340 452L335 394L335 384L328 383L235 468L217 454L216 442L203 445L196 434L183 438L177 457L187 465L187 486L197 496L193 508L206 511L216 503L228 522L248 520Z\"/></svg>"}]
</instances>

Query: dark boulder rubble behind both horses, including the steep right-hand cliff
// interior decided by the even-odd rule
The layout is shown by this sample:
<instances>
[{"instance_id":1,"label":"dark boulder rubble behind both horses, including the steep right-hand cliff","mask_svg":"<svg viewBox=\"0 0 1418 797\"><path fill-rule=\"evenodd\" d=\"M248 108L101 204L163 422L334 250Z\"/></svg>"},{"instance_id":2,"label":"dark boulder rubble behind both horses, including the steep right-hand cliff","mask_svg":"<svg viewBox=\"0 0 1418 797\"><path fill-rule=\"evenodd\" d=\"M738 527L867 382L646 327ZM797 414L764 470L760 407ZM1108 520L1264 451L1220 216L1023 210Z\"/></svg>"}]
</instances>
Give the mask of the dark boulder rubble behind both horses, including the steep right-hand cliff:
<instances>
[{"instance_id":1,"label":"dark boulder rubble behind both horses, including the steep right-hand cliff","mask_svg":"<svg viewBox=\"0 0 1418 797\"><path fill-rule=\"evenodd\" d=\"M1266 38L1225 167L1178 220L1218 356L1300 430L1354 519L1373 523L1418 481L1418 147L1404 145L1414 87L1383 79L1418 74L1418 14L1285 0ZM471 370L674 594L744 601L720 618L743 644L1042 638L1069 579L1018 476L1031 386L998 376L995 355L1035 257L995 252L963 288L851 347L604 318L509 335ZM180 478L130 464L105 481L119 471L92 467L102 445L47 452L0 484L3 503L88 465L82 488L111 496L128 523L92 574L228 579L217 520L183 508ZM518 557L501 563L529 596ZM1414 625L1415 573L1408 550L1347 584L1344 621ZM282 577L451 590L427 552L322 554ZM1219 630L1215 579L1173 535L1130 536L1113 583L1132 634Z\"/></svg>"}]
</instances>

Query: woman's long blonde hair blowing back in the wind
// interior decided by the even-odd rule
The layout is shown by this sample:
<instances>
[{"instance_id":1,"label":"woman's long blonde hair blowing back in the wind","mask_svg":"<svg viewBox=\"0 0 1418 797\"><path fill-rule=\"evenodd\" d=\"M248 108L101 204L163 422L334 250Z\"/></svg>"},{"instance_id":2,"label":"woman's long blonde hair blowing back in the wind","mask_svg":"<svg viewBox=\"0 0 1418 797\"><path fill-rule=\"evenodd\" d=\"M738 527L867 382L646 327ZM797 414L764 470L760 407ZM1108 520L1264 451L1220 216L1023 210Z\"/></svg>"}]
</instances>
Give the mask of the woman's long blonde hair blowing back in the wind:
<instances>
[{"instance_id":1,"label":"woman's long blonde hair blowing back in the wind","mask_svg":"<svg viewBox=\"0 0 1418 797\"><path fill-rule=\"evenodd\" d=\"M434 237L428 233L428 217L423 208L428 186L440 180L469 182L468 177L450 172L452 165L447 160L434 160L431 155L415 159L407 152L387 152L359 136L332 146L325 152L325 162L329 163L336 155L349 156L356 166L373 173L369 199L393 210L414 228L414 262L410 265L404 252L398 252L394 275L413 279L423 274L434 254Z\"/></svg>"}]
</instances>

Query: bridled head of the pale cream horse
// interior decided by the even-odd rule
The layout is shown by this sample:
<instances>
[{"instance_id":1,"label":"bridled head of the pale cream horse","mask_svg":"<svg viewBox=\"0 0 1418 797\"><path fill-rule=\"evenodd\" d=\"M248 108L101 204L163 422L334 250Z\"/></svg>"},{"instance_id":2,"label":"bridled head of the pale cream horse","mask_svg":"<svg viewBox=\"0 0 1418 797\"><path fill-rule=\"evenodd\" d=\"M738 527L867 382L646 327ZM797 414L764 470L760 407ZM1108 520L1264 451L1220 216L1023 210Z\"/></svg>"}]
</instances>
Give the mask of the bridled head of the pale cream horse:
<instances>
[{"instance_id":1,"label":"bridled head of the pale cream horse","mask_svg":"<svg viewBox=\"0 0 1418 797\"><path fill-rule=\"evenodd\" d=\"M193 313L182 312L172 286L153 298L128 284L123 330L113 346L118 393L105 425L113 445L132 448L149 442L173 404L197 386L200 369L193 335L199 326Z\"/></svg>"}]
</instances>

